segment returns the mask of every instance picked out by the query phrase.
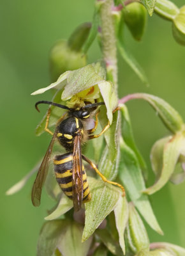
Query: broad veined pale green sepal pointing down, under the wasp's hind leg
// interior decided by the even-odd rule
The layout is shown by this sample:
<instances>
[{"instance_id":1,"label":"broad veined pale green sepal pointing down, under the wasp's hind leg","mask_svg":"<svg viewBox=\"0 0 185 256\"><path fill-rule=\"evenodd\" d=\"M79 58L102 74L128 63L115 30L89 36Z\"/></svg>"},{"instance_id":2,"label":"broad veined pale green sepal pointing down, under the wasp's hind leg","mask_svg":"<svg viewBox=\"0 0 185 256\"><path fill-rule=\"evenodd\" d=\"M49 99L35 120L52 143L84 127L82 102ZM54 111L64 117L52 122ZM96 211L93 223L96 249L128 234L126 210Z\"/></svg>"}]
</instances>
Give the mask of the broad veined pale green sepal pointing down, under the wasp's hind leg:
<instances>
[{"instance_id":1,"label":"broad veined pale green sepal pointing down, under the wasp's hind leg","mask_svg":"<svg viewBox=\"0 0 185 256\"><path fill-rule=\"evenodd\" d=\"M88 178L92 199L85 204L85 227L82 241L88 239L106 216L114 210L121 190L101 180Z\"/></svg>"}]
</instances>

